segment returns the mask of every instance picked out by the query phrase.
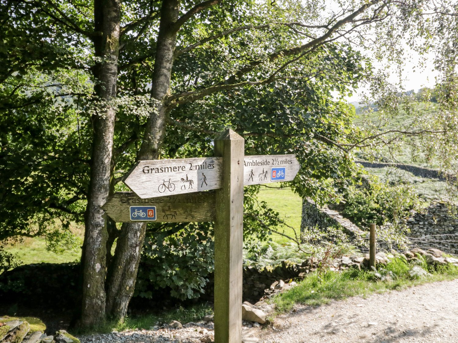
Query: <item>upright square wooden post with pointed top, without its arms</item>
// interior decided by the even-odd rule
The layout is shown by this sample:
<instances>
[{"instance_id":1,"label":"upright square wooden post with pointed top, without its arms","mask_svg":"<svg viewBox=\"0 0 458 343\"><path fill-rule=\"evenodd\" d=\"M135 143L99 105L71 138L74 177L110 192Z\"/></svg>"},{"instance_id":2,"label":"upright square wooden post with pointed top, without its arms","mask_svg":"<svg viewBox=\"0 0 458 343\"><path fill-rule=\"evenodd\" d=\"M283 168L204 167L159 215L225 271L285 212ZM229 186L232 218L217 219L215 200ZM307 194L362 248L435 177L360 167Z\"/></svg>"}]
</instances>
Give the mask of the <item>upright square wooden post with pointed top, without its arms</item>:
<instances>
[{"instance_id":1,"label":"upright square wooden post with pointed top, without its arms","mask_svg":"<svg viewBox=\"0 0 458 343\"><path fill-rule=\"evenodd\" d=\"M242 322L243 155L245 141L232 130L215 140L223 157L222 188L216 190L215 342L240 343Z\"/></svg>"}]
</instances>

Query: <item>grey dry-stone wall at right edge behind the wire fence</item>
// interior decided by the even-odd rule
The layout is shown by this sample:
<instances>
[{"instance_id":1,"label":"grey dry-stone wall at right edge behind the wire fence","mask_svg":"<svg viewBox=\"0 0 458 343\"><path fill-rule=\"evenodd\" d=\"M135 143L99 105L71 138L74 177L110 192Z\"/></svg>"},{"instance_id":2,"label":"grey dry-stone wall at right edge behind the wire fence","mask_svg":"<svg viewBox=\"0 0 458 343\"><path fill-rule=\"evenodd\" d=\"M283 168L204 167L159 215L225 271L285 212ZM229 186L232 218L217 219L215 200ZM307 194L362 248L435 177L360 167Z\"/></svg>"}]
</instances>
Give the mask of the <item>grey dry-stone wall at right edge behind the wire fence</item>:
<instances>
[{"instance_id":1,"label":"grey dry-stone wall at right edge behind the wire fence","mask_svg":"<svg viewBox=\"0 0 458 343\"><path fill-rule=\"evenodd\" d=\"M457 209L456 205L450 210L447 204L436 202L409 218L412 245L458 255L458 215L453 213Z\"/></svg>"}]
</instances>

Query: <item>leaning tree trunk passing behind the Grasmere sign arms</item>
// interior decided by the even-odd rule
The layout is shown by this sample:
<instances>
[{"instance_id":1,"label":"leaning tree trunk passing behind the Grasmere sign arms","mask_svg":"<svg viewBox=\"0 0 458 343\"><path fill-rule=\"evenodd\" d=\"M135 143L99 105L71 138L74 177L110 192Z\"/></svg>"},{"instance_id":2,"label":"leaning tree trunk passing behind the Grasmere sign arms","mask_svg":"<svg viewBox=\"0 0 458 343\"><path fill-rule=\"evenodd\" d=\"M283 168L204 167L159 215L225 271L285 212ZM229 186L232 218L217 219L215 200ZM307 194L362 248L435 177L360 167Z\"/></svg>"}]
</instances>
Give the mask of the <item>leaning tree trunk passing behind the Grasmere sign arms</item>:
<instances>
[{"instance_id":1,"label":"leaning tree trunk passing behind the Grasmere sign arms","mask_svg":"<svg viewBox=\"0 0 458 343\"><path fill-rule=\"evenodd\" d=\"M159 100L156 113L147 120L139 160L158 158L160 146L164 140L165 121L169 108L165 99L170 91L170 79L176 44L176 31L173 24L178 19L179 1L164 1L154 60L152 96ZM107 307L110 317L122 318L127 313L127 305L135 288L138 264L145 239L146 223L124 223L116 243L113 265L110 266L107 281Z\"/></svg>"}]
</instances>

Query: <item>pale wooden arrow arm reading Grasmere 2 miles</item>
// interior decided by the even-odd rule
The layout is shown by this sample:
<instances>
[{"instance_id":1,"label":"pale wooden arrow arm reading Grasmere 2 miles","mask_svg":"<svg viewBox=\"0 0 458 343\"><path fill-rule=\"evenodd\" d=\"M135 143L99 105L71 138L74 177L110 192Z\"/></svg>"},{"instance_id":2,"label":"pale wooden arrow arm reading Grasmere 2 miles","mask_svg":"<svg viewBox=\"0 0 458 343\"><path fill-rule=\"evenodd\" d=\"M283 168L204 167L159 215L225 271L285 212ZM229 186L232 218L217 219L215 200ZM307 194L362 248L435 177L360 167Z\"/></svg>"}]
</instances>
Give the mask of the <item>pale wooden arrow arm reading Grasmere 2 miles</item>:
<instances>
[{"instance_id":1,"label":"pale wooden arrow arm reading Grasmere 2 miles","mask_svg":"<svg viewBox=\"0 0 458 343\"><path fill-rule=\"evenodd\" d=\"M221 187L221 158L138 161L124 183L140 198L208 191Z\"/></svg>"}]
</instances>

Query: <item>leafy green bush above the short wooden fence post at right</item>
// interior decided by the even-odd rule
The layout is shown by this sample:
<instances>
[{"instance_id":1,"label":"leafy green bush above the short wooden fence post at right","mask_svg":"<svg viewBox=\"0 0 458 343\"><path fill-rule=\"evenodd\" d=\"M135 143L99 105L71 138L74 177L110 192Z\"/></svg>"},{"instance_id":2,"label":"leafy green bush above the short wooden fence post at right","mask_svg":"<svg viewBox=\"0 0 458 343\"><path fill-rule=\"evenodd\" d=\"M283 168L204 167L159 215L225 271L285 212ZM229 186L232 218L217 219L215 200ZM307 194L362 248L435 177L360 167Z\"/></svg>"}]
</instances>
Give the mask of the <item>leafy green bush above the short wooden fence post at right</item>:
<instances>
[{"instance_id":1,"label":"leafy green bush above the short wooden fence post at right","mask_svg":"<svg viewBox=\"0 0 458 343\"><path fill-rule=\"evenodd\" d=\"M412 209L418 209L420 201L407 185L389 185L370 176L364 186L355 185L344 189L344 214L360 227L370 223L396 224L405 219Z\"/></svg>"}]
</instances>

